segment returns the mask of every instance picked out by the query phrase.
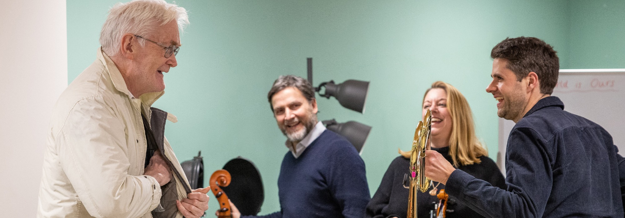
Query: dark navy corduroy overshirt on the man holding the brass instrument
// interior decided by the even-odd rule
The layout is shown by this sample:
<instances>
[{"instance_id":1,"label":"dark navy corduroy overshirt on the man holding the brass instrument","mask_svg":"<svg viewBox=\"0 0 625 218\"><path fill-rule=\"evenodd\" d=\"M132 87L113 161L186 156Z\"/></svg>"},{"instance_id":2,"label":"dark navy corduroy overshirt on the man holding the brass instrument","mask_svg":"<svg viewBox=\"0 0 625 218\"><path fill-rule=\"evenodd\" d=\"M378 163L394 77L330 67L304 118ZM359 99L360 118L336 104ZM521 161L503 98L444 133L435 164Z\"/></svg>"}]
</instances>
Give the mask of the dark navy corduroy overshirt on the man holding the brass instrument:
<instances>
[{"instance_id":1,"label":"dark navy corduroy overshirt on the man holding the brass instrument","mask_svg":"<svg viewBox=\"0 0 625 218\"><path fill-rule=\"evenodd\" d=\"M620 218L625 161L617 152L601 126L546 97L510 132L507 190L456 169L446 191L486 217Z\"/></svg>"}]
</instances>

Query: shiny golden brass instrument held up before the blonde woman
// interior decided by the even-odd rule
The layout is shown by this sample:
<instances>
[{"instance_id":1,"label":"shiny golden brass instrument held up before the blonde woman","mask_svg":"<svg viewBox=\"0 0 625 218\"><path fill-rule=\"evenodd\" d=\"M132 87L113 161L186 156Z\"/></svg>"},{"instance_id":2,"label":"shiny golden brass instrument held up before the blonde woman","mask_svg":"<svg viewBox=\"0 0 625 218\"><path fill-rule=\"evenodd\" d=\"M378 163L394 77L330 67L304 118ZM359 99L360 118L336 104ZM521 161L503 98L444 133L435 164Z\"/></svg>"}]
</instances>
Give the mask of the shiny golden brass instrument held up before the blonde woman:
<instances>
[{"instance_id":1,"label":"shiny golden brass instrument held up before the blonde woman","mask_svg":"<svg viewBox=\"0 0 625 218\"><path fill-rule=\"evenodd\" d=\"M432 181L426 178L425 163L426 149L429 148L430 130L432 128L432 112L426 110L423 121L419 121L414 131L412 151L410 156L410 172L404 175L404 187L409 189L407 218L417 218L417 190L426 192L432 185ZM409 180L409 185L407 185Z\"/></svg>"}]
</instances>

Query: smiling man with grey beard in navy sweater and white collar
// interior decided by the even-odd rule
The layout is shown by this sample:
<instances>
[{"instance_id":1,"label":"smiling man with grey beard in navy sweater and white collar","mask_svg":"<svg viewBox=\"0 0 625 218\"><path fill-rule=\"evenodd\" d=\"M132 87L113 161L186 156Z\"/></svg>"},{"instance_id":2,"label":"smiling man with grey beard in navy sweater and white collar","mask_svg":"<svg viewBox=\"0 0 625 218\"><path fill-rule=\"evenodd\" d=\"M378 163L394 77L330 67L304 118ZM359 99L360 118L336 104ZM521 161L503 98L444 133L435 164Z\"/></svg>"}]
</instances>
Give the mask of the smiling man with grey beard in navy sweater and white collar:
<instances>
[{"instance_id":1,"label":"smiling man with grey beard in navy sweater and white collar","mask_svg":"<svg viewBox=\"0 0 625 218\"><path fill-rule=\"evenodd\" d=\"M281 211L260 217L363 217L371 199L364 161L346 138L317 121L312 85L281 76L267 98L289 152L277 181Z\"/></svg>"}]
</instances>

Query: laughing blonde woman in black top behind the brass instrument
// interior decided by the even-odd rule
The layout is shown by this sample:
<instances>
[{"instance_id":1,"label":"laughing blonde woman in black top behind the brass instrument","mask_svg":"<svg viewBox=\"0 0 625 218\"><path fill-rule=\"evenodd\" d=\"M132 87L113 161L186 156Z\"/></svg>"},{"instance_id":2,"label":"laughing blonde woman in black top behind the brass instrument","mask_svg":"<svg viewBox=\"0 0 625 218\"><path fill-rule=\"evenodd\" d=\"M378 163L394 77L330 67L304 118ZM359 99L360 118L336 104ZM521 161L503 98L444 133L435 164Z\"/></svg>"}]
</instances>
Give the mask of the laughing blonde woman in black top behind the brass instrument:
<instances>
[{"instance_id":1,"label":"laughing blonde woman in black top behind the brass instrument","mask_svg":"<svg viewBox=\"0 0 625 218\"><path fill-rule=\"evenodd\" d=\"M441 153L455 168L462 169L476 178L491 182L493 186L506 188L504 178L487 151L477 140L471 108L466 98L449 83L437 81L426 90L422 101L422 114L432 111L431 148ZM367 204L365 217L406 217L408 189L403 187L404 174L409 173L410 152L399 150L378 187L376 194ZM444 184L434 182L437 190ZM430 188L430 191L432 187ZM417 193L419 217L429 217L434 209L436 196L427 192ZM433 191L434 193L436 191ZM459 204L449 196L447 217L483 217L466 205Z\"/></svg>"}]
</instances>

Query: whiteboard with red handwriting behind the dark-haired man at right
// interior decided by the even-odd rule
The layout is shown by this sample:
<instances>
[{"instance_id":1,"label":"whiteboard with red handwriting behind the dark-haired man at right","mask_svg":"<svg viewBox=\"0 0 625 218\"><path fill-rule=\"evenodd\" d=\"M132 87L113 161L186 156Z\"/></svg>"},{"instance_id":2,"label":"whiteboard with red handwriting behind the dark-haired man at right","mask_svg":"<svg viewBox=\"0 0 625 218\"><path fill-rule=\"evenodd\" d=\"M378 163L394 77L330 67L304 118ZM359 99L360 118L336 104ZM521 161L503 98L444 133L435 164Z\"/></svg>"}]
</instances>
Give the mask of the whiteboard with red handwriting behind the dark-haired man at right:
<instances>
[{"instance_id":1,"label":"whiteboard with red handwriting behind the dark-haired man at right","mask_svg":"<svg viewBox=\"0 0 625 218\"><path fill-rule=\"evenodd\" d=\"M551 95L564 102L564 110L603 126L625 156L625 69L560 70ZM499 118L497 166L504 175L507 138L514 124Z\"/></svg>"}]
</instances>

